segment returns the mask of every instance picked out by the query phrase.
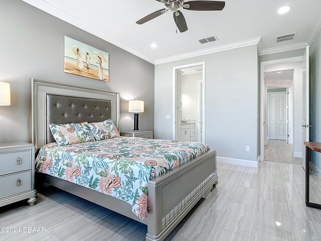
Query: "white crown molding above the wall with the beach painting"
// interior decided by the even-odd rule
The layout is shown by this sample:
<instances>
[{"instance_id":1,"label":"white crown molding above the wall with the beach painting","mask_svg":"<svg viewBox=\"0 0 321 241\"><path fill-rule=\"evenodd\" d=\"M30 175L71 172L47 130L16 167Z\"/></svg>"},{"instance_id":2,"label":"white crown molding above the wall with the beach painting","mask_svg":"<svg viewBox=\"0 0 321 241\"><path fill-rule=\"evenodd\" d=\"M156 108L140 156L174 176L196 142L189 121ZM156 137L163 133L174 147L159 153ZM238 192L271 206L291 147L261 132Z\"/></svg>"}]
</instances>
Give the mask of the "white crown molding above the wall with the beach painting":
<instances>
[{"instance_id":1,"label":"white crown molding above the wall with the beach painting","mask_svg":"<svg viewBox=\"0 0 321 241\"><path fill-rule=\"evenodd\" d=\"M43 0L22 0L23 2L37 8L40 9L58 19L61 19L62 21L65 21L79 29L82 29L102 40L105 40L133 55L136 55L137 57L144 59L146 61L148 61L149 63L154 64L155 61L153 58L141 53L140 51L126 45L125 43L121 42L120 40L100 31L99 29L83 22L82 20L75 18L73 16L71 16L70 14L64 12L63 10L43 1Z\"/></svg>"}]
</instances>

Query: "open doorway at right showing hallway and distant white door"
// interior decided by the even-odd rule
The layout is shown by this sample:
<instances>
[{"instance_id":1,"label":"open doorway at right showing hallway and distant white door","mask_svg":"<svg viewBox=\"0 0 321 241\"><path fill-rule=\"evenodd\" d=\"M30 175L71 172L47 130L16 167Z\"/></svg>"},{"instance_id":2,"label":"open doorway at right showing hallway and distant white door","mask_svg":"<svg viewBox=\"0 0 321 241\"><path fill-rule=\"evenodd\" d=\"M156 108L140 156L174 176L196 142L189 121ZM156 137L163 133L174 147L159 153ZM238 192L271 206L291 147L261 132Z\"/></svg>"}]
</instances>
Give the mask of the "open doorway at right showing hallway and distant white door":
<instances>
[{"instance_id":1,"label":"open doorway at right showing hallway and distant white door","mask_svg":"<svg viewBox=\"0 0 321 241\"><path fill-rule=\"evenodd\" d=\"M293 157L293 75L294 69L264 72L264 161L301 163Z\"/></svg>"}]
</instances>

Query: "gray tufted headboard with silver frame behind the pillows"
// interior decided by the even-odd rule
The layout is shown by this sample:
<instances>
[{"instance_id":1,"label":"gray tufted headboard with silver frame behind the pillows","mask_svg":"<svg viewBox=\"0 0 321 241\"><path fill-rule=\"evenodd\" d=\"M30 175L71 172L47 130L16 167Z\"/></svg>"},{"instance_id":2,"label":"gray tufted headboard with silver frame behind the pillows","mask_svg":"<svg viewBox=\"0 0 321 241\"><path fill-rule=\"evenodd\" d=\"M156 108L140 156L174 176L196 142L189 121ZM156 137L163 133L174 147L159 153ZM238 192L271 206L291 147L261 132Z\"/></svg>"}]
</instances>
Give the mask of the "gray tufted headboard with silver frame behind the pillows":
<instances>
[{"instance_id":1,"label":"gray tufted headboard with silver frame behind the pillows","mask_svg":"<svg viewBox=\"0 0 321 241\"><path fill-rule=\"evenodd\" d=\"M30 141L36 151L55 142L49 124L100 122L119 129L119 93L31 79Z\"/></svg>"}]
</instances>

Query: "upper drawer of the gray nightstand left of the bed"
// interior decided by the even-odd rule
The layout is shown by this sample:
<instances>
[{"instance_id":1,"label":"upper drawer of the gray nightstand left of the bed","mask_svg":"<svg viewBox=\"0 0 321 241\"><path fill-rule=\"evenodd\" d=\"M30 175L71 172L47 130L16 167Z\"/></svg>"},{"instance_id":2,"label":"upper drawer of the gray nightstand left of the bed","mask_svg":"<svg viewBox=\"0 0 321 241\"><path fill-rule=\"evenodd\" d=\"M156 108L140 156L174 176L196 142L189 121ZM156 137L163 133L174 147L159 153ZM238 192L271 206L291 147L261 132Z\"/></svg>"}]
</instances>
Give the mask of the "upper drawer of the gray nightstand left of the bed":
<instances>
[{"instance_id":1,"label":"upper drawer of the gray nightstand left of the bed","mask_svg":"<svg viewBox=\"0 0 321 241\"><path fill-rule=\"evenodd\" d=\"M31 150L0 154L0 175L31 169Z\"/></svg>"}]
</instances>

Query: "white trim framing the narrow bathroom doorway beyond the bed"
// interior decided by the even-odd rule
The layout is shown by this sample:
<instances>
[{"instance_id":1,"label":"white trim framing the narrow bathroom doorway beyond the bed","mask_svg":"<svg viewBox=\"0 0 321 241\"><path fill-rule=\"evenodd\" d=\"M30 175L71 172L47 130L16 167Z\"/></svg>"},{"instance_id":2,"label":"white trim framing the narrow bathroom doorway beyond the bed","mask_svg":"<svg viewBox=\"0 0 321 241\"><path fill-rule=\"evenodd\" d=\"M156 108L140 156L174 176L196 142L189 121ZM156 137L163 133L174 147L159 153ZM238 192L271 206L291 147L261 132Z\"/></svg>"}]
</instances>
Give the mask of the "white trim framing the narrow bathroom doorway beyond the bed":
<instances>
[{"instance_id":1,"label":"white trim framing the narrow bathroom doorway beyond the bed","mask_svg":"<svg viewBox=\"0 0 321 241\"><path fill-rule=\"evenodd\" d=\"M189 67L195 67L202 65L203 72L202 72L202 81L203 81L203 105L202 105L202 118L203 118L203 129L202 129L202 140L199 140L199 142L205 143L205 61L198 62L198 63L192 63L192 64L185 64L180 66L174 66L173 67L173 141L176 140L176 71L178 69L184 69Z\"/></svg>"}]
</instances>

